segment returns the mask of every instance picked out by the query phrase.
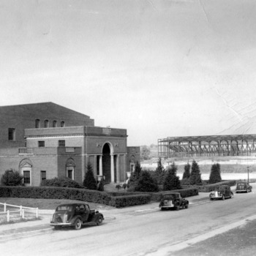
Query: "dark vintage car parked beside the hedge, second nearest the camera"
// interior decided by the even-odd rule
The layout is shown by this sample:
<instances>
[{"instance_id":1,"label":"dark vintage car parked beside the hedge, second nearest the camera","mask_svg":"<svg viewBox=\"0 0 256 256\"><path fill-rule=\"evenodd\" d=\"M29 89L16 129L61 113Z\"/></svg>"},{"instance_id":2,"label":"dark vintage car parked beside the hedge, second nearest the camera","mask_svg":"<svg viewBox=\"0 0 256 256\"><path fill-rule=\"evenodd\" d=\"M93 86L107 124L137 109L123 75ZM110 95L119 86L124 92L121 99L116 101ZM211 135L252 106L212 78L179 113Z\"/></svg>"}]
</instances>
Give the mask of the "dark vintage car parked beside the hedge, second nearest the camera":
<instances>
[{"instance_id":1,"label":"dark vintage car parked beside the hedge, second nearest the camera","mask_svg":"<svg viewBox=\"0 0 256 256\"><path fill-rule=\"evenodd\" d=\"M159 208L161 208L161 210L167 208L176 208L176 210L189 208L189 200L182 198L181 194L178 192L167 192L162 194Z\"/></svg>"}]
</instances>

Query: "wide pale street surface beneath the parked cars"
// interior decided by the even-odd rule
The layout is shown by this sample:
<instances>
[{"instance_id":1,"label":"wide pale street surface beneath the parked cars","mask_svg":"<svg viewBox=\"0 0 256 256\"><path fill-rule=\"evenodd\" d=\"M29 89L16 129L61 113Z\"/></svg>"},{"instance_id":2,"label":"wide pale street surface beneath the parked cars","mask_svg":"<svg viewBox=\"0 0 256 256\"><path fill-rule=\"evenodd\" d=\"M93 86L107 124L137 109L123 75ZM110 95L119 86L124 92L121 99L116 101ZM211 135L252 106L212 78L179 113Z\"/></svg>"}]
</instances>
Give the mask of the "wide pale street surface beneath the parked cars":
<instances>
[{"instance_id":1,"label":"wide pale street surface beneath the parked cars","mask_svg":"<svg viewBox=\"0 0 256 256\"><path fill-rule=\"evenodd\" d=\"M214 201L204 193L205 200L180 211L159 211L158 203L104 211L101 226L46 228L1 241L1 255L173 255L255 216L255 191L252 184L251 193Z\"/></svg>"}]
</instances>

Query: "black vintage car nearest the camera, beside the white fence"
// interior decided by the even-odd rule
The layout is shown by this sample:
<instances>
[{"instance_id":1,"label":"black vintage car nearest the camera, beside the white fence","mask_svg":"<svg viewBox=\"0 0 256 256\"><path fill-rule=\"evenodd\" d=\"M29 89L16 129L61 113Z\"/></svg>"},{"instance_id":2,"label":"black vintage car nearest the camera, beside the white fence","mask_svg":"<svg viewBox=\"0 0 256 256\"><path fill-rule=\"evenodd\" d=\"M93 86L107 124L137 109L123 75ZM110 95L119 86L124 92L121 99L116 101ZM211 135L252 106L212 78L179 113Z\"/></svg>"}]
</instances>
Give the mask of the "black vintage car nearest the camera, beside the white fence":
<instances>
[{"instance_id":1,"label":"black vintage car nearest the camera, beside the white fence","mask_svg":"<svg viewBox=\"0 0 256 256\"><path fill-rule=\"evenodd\" d=\"M50 225L55 229L72 226L80 230L85 224L100 225L103 219L103 214L91 210L86 203L64 203L57 206Z\"/></svg>"}]
</instances>

